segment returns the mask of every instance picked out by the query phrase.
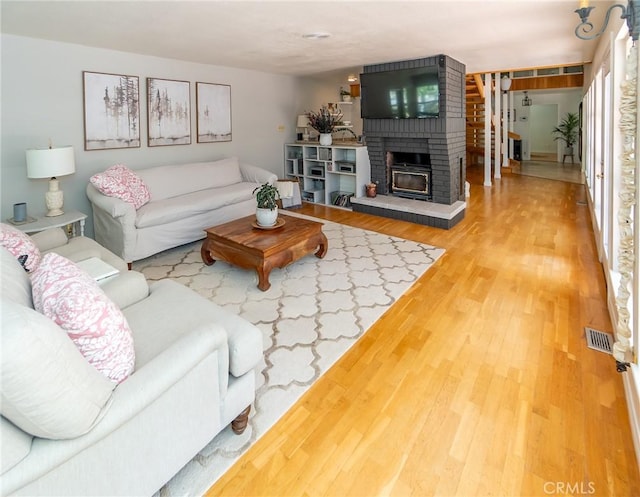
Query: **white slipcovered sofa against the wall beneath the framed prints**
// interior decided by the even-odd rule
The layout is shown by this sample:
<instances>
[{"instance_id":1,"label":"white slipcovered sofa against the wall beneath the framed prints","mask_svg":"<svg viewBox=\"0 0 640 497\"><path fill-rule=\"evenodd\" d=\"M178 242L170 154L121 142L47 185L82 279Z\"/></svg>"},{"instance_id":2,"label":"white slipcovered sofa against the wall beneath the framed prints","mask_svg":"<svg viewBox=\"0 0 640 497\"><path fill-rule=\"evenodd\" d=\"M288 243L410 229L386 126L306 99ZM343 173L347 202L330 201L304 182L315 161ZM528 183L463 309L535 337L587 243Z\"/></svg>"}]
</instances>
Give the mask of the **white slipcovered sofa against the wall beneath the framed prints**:
<instances>
[{"instance_id":1,"label":"white slipcovered sofa against the wall beneath the framed prints","mask_svg":"<svg viewBox=\"0 0 640 497\"><path fill-rule=\"evenodd\" d=\"M277 180L237 157L135 173L151 194L151 201L138 210L87 185L96 240L127 263L200 240L206 228L254 213L253 190Z\"/></svg>"}]
</instances>

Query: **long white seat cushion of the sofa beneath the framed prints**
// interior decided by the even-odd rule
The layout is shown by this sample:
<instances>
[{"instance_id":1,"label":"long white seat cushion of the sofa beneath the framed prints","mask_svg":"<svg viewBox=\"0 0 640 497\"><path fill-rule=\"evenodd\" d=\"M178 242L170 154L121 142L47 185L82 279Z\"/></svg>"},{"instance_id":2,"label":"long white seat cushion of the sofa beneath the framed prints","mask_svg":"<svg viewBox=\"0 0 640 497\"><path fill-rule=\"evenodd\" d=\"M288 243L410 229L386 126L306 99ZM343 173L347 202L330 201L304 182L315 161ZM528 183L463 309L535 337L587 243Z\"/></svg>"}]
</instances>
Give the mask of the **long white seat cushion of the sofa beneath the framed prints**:
<instances>
[{"instance_id":1,"label":"long white seat cushion of the sofa beneath the framed prints","mask_svg":"<svg viewBox=\"0 0 640 497\"><path fill-rule=\"evenodd\" d=\"M254 183L235 183L222 188L211 188L187 193L180 197L149 202L136 213L136 227L148 228L168 224L226 205L250 200L256 186Z\"/></svg>"}]
</instances>

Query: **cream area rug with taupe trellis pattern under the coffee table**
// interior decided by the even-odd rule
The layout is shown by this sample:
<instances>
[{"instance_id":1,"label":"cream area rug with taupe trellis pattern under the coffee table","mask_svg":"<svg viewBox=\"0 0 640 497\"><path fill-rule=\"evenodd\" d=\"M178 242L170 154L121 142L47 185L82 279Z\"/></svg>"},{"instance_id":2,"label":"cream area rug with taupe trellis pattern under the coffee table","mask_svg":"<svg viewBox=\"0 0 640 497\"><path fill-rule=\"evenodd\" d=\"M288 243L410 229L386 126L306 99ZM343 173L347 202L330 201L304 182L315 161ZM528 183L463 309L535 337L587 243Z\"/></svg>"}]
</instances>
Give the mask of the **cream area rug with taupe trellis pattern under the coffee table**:
<instances>
[{"instance_id":1,"label":"cream area rug with taupe trellis pattern under the coffee table","mask_svg":"<svg viewBox=\"0 0 640 497\"><path fill-rule=\"evenodd\" d=\"M183 283L255 324L264 336L246 431L223 430L160 490L161 497L202 495L444 253L322 222L329 241L324 259L311 254L274 269L266 292L256 287L255 271L220 261L205 266L201 242L133 264L150 281Z\"/></svg>"}]
</instances>

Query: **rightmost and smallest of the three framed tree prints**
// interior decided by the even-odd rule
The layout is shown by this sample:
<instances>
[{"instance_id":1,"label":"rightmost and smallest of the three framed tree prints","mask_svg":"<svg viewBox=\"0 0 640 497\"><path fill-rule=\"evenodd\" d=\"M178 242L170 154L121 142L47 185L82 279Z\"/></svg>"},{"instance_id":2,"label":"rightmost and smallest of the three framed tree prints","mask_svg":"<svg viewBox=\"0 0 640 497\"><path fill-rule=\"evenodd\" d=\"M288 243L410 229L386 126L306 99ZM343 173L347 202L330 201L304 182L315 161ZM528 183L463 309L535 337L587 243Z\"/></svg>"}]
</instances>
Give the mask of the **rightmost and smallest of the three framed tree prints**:
<instances>
[{"instance_id":1,"label":"rightmost and smallest of the three framed tree prints","mask_svg":"<svg viewBox=\"0 0 640 497\"><path fill-rule=\"evenodd\" d=\"M231 141L231 86L196 83L198 143Z\"/></svg>"}]
</instances>

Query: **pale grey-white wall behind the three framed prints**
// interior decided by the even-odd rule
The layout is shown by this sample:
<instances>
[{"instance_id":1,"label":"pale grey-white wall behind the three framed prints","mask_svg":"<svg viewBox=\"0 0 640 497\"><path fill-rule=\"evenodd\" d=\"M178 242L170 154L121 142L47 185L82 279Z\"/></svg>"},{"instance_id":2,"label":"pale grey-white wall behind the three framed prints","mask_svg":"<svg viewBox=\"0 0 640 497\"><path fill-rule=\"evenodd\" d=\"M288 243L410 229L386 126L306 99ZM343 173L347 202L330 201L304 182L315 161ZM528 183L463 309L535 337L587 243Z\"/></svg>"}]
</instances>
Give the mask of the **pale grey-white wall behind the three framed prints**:
<instances>
[{"instance_id":1,"label":"pale grey-white wall behind the three framed prints","mask_svg":"<svg viewBox=\"0 0 640 497\"><path fill-rule=\"evenodd\" d=\"M93 223L86 184L91 175L116 163L139 169L237 155L282 174L284 144L295 139L298 78L4 34L1 44L2 220L12 217L17 202L27 202L29 215L45 211L48 181L27 178L25 150L46 147L49 139L54 146L75 148L76 173L61 177L60 184L65 208L89 214L89 235ZM140 148L84 151L82 71L140 78ZM147 147L147 77L191 82L191 145ZM231 85L231 142L196 143L196 81Z\"/></svg>"}]
</instances>

